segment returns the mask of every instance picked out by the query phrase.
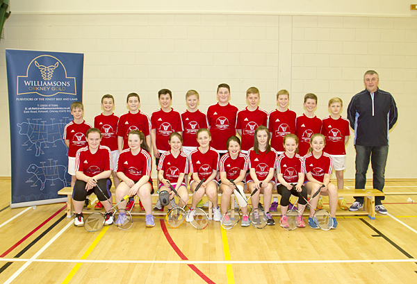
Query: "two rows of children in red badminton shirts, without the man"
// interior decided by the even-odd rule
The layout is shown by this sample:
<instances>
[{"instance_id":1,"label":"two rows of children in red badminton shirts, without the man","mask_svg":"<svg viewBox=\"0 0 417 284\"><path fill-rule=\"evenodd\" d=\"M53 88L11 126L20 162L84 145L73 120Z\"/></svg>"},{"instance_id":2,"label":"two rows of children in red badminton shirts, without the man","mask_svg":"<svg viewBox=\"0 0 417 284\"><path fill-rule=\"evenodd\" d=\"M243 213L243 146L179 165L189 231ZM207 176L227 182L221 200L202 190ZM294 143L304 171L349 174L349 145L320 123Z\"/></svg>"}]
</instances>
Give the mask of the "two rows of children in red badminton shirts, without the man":
<instances>
[{"instance_id":1,"label":"two rows of children in red badminton shirts, without the man","mask_svg":"<svg viewBox=\"0 0 417 284\"><path fill-rule=\"evenodd\" d=\"M304 198L320 190L311 199L309 226L318 228L313 222L314 208L321 208L320 195L329 196L330 226L336 228L336 206L347 210L343 198L338 198L336 186L330 183L332 169L336 171L338 188L343 188L345 169L345 144L350 135L350 124L341 117L342 101L329 101L331 115L319 119L314 115L317 105L315 94L304 97L305 113L296 116L288 109L289 93L277 93L277 106L268 114L259 108L260 93L256 87L247 90L248 106L238 110L229 103L230 87L220 84L217 90L218 103L208 107L207 115L198 110L199 94L195 90L186 93L187 110L181 114L171 108L172 92L167 89L158 92L161 109L149 116L139 110L138 94L127 96L129 112L114 115L114 99L110 94L101 99L103 113L95 117L94 126L83 120L83 105L74 102L71 114L74 121L65 127L64 139L69 150L68 172L72 175L75 226L83 226L83 206L90 206L88 195L94 192L99 202L97 209L106 210L106 225L123 224L126 210L134 206L133 197L138 195L140 206L146 212L147 227L155 225L152 215L151 178L152 153L156 158L158 190L170 192L175 206L174 187L181 199L178 206L188 200L188 178L193 195L186 221L193 219L193 210L204 194L213 203L213 220L220 221L227 212L231 194L243 188L252 195L252 206L259 208L259 194L263 193L263 208L268 225L274 225L270 211L277 210L277 200L272 201L272 191L277 188L281 194L280 224L288 226L285 213L291 194ZM237 137L236 133L240 136ZM116 198L126 194L131 197L117 207L119 217L113 220L111 209L111 179L116 187ZM188 177L188 174L191 174ZM233 182L231 182L233 180ZM98 185L98 186L96 186ZM97 188L99 187L99 188ZM222 193L220 207L218 193ZM320 199L319 199L320 197ZM249 226L245 201L238 203L243 212L241 226ZM300 212L304 212L306 201L299 199ZM229 222L224 215L223 222ZM298 220L305 227L304 219ZM254 220L256 222L256 218Z\"/></svg>"}]
</instances>

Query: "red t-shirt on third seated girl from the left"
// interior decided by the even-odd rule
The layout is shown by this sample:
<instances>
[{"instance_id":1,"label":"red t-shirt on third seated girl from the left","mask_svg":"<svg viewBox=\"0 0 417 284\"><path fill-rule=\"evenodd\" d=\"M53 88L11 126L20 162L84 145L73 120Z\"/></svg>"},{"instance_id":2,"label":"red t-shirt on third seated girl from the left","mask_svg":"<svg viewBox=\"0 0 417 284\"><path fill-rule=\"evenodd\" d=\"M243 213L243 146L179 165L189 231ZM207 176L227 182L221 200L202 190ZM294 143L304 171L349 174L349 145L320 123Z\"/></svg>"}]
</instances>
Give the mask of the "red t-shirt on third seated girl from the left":
<instances>
[{"instance_id":1,"label":"red t-shirt on third seated girl from the left","mask_svg":"<svg viewBox=\"0 0 417 284\"><path fill-rule=\"evenodd\" d=\"M175 158L171 151L166 151L159 159L157 170L163 170L163 178L170 183L177 183L179 174L188 174L188 156L180 151Z\"/></svg>"}]
</instances>

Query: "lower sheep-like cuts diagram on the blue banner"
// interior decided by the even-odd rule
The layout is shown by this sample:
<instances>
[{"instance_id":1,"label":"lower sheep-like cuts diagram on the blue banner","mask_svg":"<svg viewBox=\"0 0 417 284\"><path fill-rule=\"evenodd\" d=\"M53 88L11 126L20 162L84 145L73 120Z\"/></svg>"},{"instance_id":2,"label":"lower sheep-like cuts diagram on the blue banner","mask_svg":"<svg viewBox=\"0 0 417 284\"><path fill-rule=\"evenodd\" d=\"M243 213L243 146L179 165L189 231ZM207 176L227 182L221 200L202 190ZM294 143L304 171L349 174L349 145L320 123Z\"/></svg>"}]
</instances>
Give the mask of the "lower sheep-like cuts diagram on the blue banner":
<instances>
[{"instance_id":1,"label":"lower sheep-like cuts diagram on the blue banner","mask_svg":"<svg viewBox=\"0 0 417 284\"><path fill-rule=\"evenodd\" d=\"M43 190L45 188L46 181L51 181L51 185L55 185L54 181L58 179L63 182L64 187L70 186L70 183L67 183L67 179L65 178L67 167L63 165L56 165L56 161L54 162L55 165L42 165L42 167L39 167L35 164L29 165L28 169L26 169L26 172L28 174L33 174L33 176L31 176L31 178L29 178L26 183L33 182L33 179L36 179L33 185L39 181L41 185L40 190ZM41 162L41 164L44 164L44 162ZM51 160L49 160L49 164L51 164Z\"/></svg>"}]
</instances>

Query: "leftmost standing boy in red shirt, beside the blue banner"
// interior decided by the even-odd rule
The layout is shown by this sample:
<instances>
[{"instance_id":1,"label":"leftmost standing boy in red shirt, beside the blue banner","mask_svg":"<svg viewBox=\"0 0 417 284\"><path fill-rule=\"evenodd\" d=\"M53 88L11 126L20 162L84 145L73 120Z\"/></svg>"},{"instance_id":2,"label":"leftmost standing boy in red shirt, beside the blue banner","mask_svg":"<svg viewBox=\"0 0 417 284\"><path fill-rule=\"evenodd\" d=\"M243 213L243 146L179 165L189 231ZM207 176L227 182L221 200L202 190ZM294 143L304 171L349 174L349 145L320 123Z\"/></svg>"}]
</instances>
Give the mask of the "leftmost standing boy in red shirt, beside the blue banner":
<instances>
[{"instance_id":1,"label":"leftmost standing boy in red shirt, beside the blue banner","mask_svg":"<svg viewBox=\"0 0 417 284\"><path fill-rule=\"evenodd\" d=\"M71 103L71 115L74 120L67 124L64 128L65 145L68 147L68 174L71 175L71 187L74 187L76 182L75 177L75 155L76 151L87 146L85 133L91 128L91 125L83 119L84 106L79 101ZM87 205L85 201L85 204ZM88 203L90 205L90 203ZM87 207L87 206L86 206Z\"/></svg>"}]
</instances>

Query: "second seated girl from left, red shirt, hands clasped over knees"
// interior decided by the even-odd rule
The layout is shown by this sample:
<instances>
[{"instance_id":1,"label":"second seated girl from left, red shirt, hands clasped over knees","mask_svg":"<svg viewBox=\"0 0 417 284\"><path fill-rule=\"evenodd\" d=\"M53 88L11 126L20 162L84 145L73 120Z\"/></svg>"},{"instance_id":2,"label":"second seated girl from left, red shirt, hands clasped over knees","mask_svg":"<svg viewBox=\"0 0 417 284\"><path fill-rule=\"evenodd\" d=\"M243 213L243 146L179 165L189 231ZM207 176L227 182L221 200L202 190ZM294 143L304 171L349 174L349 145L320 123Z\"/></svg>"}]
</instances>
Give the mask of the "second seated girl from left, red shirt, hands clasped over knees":
<instances>
[{"instance_id":1,"label":"second seated girl from left, red shirt, hands clasped over knees","mask_svg":"<svg viewBox=\"0 0 417 284\"><path fill-rule=\"evenodd\" d=\"M117 162L117 177L120 178L120 185L116 189L116 198L121 200L124 196L133 197L138 194L142 206L145 208L145 222L147 227L155 226L154 216L152 215L152 186L151 170L152 158L149 155L149 148L145 141L145 135L142 131L133 130L127 137L129 149L124 149L120 153ZM123 201L117 206L119 208L119 217L116 220L116 226L123 224L123 218L126 217L126 203Z\"/></svg>"}]
</instances>

